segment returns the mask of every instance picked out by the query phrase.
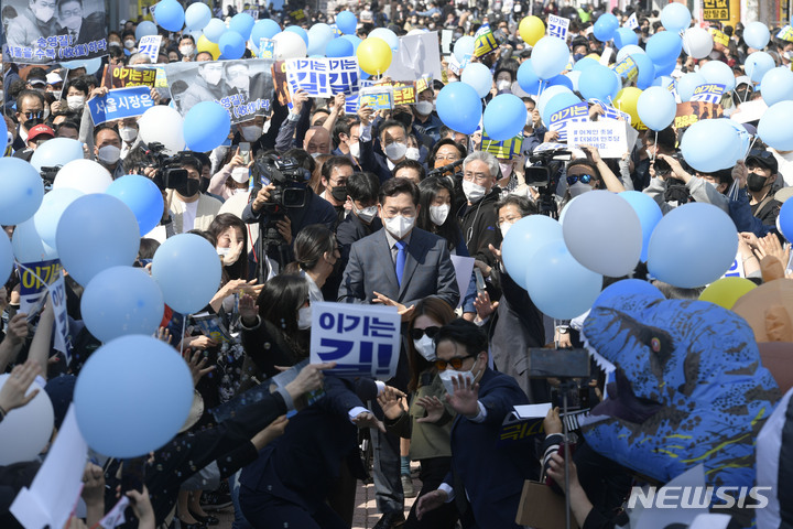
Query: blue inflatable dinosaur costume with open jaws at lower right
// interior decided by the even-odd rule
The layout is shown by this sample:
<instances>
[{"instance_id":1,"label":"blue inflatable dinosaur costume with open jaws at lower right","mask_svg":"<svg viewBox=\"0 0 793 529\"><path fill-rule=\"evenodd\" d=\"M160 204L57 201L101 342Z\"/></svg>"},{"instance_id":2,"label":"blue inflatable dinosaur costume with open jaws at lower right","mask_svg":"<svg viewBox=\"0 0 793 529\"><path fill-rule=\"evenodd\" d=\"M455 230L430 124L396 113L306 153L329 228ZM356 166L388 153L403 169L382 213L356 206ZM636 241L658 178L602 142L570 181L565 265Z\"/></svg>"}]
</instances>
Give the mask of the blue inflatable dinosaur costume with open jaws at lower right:
<instances>
[{"instance_id":1,"label":"blue inflatable dinosaur costume with open jaws at lower right","mask_svg":"<svg viewBox=\"0 0 793 529\"><path fill-rule=\"evenodd\" d=\"M707 485L754 484L754 442L780 391L740 316L616 296L591 310L583 335L616 379L593 410L607 418L584 428L595 451L664 483L703 463Z\"/></svg>"}]
</instances>

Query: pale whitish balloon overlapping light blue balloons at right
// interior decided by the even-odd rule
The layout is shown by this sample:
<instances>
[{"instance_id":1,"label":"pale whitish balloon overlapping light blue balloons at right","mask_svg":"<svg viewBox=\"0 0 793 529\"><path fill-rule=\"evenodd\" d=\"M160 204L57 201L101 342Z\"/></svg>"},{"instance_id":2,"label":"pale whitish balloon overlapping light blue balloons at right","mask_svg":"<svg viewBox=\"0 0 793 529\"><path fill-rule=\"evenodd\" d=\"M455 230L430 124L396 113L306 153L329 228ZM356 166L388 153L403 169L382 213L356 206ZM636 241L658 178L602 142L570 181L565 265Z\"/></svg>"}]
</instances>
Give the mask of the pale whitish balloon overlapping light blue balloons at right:
<instances>
[{"instance_id":1,"label":"pale whitish balloon overlapping light blue balloons at right","mask_svg":"<svg viewBox=\"0 0 793 529\"><path fill-rule=\"evenodd\" d=\"M639 216L628 201L610 191L576 197L565 208L562 233L575 260L604 276L627 276L641 258Z\"/></svg>"}]
</instances>

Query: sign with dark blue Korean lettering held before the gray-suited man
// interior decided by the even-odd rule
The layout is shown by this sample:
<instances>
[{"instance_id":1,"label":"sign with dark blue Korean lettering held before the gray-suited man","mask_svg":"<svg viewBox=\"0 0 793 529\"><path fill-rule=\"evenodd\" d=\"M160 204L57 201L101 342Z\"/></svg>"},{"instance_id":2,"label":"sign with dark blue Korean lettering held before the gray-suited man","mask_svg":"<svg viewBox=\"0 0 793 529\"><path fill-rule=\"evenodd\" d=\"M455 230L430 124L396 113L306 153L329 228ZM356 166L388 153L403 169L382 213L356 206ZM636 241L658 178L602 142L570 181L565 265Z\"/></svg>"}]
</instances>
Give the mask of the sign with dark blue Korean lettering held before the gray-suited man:
<instances>
[{"instance_id":1,"label":"sign with dark blue Korean lettering held before the gray-suited man","mask_svg":"<svg viewBox=\"0 0 793 529\"><path fill-rule=\"evenodd\" d=\"M388 380L397 373L401 317L395 306L312 303L311 363L334 373Z\"/></svg>"}]
</instances>

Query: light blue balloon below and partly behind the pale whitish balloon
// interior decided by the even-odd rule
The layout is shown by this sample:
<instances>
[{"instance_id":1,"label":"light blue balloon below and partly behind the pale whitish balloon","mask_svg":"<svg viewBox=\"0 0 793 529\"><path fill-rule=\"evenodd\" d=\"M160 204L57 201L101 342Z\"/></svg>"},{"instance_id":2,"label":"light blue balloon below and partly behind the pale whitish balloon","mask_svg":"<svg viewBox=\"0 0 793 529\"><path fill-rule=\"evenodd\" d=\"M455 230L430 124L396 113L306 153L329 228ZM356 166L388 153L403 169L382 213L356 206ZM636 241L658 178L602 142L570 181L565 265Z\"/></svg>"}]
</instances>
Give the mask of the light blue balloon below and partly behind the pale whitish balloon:
<instances>
[{"instance_id":1,"label":"light blue balloon below and partly behind the pale whitish balloon","mask_svg":"<svg viewBox=\"0 0 793 529\"><path fill-rule=\"evenodd\" d=\"M584 314L602 288L602 276L576 261L564 240L537 248L524 273L526 291L534 305L556 320Z\"/></svg>"}]
</instances>

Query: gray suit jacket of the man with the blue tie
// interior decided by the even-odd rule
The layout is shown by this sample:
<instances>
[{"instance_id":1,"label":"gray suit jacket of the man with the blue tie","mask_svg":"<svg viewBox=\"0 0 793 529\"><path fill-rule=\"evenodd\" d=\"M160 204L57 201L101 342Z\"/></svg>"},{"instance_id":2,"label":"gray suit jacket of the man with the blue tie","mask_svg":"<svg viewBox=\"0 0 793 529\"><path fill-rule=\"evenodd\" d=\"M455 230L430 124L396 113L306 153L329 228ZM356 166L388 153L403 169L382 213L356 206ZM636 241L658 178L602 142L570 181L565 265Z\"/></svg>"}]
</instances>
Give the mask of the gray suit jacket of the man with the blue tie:
<instances>
[{"instance_id":1,"label":"gray suit jacket of the man with the blue tie","mask_svg":"<svg viewBox=\"0 0 793 529\"><path fill-rule=\"evenodd\" d=\"M405 306L435 295L452 307L459 302L459 290L446 241L413 228L408 247L402 287L397 282L385 228L352 244L341 278L339 299L347 303L371 303L379 292Z\"/></svg>"}]
</instances>

